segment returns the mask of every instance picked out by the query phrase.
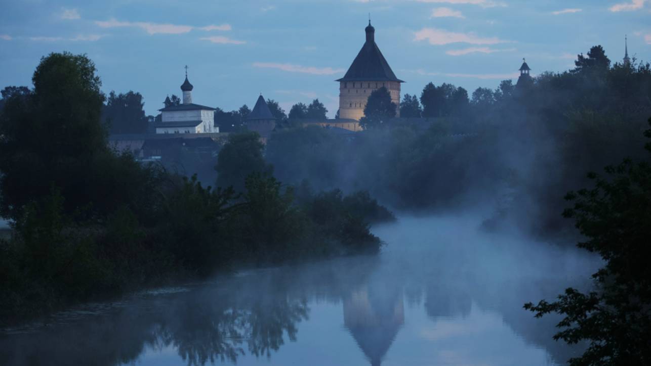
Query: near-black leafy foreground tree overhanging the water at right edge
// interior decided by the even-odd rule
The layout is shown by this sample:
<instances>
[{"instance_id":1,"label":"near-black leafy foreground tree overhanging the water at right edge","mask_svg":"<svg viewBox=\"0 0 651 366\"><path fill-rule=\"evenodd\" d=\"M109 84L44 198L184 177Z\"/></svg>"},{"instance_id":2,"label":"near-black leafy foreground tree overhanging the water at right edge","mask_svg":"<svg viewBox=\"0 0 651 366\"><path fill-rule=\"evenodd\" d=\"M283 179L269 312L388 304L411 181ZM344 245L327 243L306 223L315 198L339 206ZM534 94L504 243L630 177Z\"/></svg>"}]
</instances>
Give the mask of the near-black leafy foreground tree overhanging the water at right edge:
<instances>
[{"instance_id":1,"label":"near-black leafy foreground tree overhanging the water at right edge","mask_svg":"<svg viewBox=\"0 0 651 366\"><path fill-rule=\"evenodd\" d=\"M651 118L649 119L651 124ZM644 135L651 138L651 129ZM646 144L651 152L651 142ZM542 317L559 313L562 330L554 339L589 341L570 365L648 365L651 363L651 159L608 166L609 179L590 173L594 188L570 192L574 201L564 216L588 240L577 246L601 255L605 267L592 275L596 289L565 290L555 302L542 300L525 309Z\"/></svg>"}]
</instances>

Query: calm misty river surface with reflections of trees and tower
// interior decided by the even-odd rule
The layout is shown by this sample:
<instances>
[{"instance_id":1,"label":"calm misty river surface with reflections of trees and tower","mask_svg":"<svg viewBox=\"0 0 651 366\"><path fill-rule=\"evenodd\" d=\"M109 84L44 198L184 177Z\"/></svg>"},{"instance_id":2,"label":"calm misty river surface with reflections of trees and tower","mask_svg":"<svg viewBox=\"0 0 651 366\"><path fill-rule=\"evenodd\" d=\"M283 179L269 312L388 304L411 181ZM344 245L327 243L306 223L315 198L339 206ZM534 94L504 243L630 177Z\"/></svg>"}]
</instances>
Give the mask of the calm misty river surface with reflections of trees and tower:
<instances>
[{"instance_id":1,"label":"calm misty river surface with reflections of trees and tower","mask_svg":"<svg viewBox=\"0 0 651 366\"><path fill-rule=\"evenodd\" d=\"M87 304L0 331L1 365L556 365L577 349L527 301L594 259L470 216L374 228L380 255L270 268Z\"/></svg>"}]
</instances>

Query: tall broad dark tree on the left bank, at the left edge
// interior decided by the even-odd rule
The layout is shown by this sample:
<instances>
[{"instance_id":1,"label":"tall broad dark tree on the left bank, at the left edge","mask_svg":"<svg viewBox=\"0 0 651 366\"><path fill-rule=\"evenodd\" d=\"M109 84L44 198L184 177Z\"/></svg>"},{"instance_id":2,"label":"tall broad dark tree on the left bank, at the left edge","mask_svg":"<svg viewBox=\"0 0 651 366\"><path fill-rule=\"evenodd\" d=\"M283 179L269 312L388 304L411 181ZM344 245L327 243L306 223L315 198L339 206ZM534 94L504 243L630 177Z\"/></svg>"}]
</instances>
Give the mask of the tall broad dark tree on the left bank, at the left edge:
<instances>
[{"instance_id":1,"label":"tall broad dark tree on the left bank, at the left edge","mask_svg":"<svg viewBox=\"0 0 651 366\"><path fill-rule=\"evenodd\" d=\"M147 211L156 178L109 149L92 61L51 53L32 81L33 96L9 99L0 116L0 215L20 216L52 189L64 198L66 214L104 217L124 202Z\"/></svg>"}]
</instances>

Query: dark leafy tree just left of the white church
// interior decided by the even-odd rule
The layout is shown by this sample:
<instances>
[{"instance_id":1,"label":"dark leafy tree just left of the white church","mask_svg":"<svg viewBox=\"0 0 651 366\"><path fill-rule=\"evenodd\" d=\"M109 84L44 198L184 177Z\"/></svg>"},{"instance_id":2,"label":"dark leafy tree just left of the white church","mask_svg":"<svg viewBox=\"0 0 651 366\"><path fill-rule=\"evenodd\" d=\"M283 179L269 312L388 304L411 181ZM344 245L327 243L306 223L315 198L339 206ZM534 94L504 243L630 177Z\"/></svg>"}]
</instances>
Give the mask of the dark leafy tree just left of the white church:
<instances>
[{"instance_id":1,"label":"dark leafy tree just left of the white church","mask_svg":"<svg viewBox=\"0 0 651 366\"><path fill-rule=\"evenodd\" d=\"M115 94L111 91L104 107L104 121L111 133L145 133L147 120L143 107L143 96L132 91Z\"/></svg>"}]
</instances>

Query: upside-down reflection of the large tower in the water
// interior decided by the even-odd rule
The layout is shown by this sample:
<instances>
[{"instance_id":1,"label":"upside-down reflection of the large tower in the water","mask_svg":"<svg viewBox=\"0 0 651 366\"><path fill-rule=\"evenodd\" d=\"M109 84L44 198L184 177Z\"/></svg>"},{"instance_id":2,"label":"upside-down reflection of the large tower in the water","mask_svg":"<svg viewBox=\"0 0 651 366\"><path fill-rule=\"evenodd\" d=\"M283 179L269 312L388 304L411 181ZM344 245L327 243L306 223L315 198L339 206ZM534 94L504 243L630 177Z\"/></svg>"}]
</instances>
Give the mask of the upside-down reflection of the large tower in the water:
<instances>
[{"instance_id":1,"label":"upside-down reflection of the large tower in the water","mask_svg":"<svg viewBox=\"0 0 651 366\"><path fill-rule=\"evenodd\" d=\"M379 366L404 324L400 289L370 286L354 291L344 300L344 326L372 366Z\"/></svg>"}]
</instances>

